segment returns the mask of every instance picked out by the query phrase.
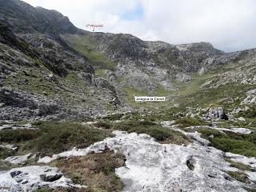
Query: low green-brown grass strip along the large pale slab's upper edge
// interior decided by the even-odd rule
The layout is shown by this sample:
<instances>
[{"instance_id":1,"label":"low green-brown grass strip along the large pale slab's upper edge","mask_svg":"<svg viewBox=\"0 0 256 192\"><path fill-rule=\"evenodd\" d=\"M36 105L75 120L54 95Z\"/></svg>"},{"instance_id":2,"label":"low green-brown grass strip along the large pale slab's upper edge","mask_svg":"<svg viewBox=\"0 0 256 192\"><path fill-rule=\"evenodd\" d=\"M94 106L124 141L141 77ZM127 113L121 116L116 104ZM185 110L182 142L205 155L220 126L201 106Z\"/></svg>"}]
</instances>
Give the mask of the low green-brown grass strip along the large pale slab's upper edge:
<instances>
[{"instance_id":1,"label":"low green-brown grass strip along the large pale slab's upper edge","mask_svg":"<svg viewBox=\"0 0 256 192\"><path fill-rule=\"evenodd\" d=\"M115 123L113 129L127 131L128 133L135 132L137 134L149 134L151 137L155 138L156 141L162 143L175 143L181 145L190 142L190 139L186 138L184 134L167 129L150 121L138 122L126 120Z\"/></svg>"}]
</instances>

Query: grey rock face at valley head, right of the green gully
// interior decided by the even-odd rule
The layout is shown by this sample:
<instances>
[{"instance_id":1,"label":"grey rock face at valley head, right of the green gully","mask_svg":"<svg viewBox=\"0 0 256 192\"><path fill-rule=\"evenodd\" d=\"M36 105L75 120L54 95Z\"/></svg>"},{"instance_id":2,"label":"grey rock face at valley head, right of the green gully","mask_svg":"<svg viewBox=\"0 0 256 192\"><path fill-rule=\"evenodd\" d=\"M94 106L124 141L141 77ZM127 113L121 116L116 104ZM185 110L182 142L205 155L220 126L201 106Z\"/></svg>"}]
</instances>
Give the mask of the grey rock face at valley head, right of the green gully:
<instances>
[{"instance_id":1,"label":"grey rock face at valley head, right of the green gully","mask_svg":"<svg viewBox=\"0 0 256 192\"><path fill-rule=\"evenodd\" d=\"M221 57L224 52L210 43L170 45L166 42L144 42L130 34L86 33L96 44L97 50L118 63L115 74L125 79L122 86L154 92L159 86L170 89L172 82L191 81L185 73L196 72L202 67L218 65L210 58ZM162 83L166 82L166 83Z\"/></svg>"}]
</instances>

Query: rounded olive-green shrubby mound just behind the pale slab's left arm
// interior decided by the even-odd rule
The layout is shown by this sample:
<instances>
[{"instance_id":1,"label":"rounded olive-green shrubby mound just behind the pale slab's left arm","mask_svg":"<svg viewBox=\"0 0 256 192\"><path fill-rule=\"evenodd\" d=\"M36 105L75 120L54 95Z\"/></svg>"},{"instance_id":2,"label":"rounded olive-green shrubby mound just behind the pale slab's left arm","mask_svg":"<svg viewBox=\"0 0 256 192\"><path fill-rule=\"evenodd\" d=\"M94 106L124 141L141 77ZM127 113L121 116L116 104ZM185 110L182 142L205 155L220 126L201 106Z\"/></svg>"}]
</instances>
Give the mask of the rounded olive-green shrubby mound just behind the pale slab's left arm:
<instances>
[{"instance_id":1,"label":"rounded olive-green shrubby mound just behind the pale slab's left arm","mask_svg":"<svg viewBox=\"0 0 256 192\"><path fill-rule=\"evenodd\" d=\"M86 148L94 142L114 136L110 130L99 130L74 122L41 122L41 136L26 143L26 150L56 154L73 147Z\"/></svg>"}]
</instances>

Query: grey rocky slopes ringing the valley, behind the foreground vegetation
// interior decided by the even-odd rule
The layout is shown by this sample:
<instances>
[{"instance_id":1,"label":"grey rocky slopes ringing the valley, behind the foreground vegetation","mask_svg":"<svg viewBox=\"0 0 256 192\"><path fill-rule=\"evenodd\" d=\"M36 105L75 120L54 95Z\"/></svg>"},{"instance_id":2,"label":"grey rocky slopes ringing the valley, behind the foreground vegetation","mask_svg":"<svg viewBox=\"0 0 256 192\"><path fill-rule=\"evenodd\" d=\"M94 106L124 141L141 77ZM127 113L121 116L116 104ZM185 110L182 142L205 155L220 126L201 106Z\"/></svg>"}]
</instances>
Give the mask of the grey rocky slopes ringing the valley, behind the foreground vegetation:
<instances>
[{"instance_id":1,"label":"grey rocky slopes ringing the valley, behind the foreground vegetation","mask_svg":"<svg viewBox=\"0 0 256 192\"><path fill-rule=\"evenodd\" d=\"M136 109L134 95L166 96L166 109L206 89L233 83L250 91L254 84L254 50L226 54L207 42L170 45L90 33L55 10L18 0L2 0L1 6L2 120L122 113ZM8 94L20 99L13 102Z\"/></svg>"}]
</instances>

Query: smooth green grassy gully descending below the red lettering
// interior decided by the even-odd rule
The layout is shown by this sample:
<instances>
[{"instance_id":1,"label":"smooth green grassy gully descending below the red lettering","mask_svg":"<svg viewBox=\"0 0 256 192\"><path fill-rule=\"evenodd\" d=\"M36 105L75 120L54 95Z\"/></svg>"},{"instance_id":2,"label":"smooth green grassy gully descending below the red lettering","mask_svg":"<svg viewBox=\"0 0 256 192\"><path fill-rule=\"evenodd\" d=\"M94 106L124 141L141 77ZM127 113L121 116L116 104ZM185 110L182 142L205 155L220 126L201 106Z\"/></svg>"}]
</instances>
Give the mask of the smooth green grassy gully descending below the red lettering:
<instances>
[{"instance_id":1,"label":"smooth green grassy gully descending below the red lettering","mask_svg":"<svg viewBox=\"0 0 256 192\"><path fill-rule=\"evenodd\" d=\"M77 50L84 57L88 58L94 67L106 70L115 69L116 64L96 50L96 44L89 36L72 36L66 34L64 38L74 50Z\"/></svg>"}]
</instances>

